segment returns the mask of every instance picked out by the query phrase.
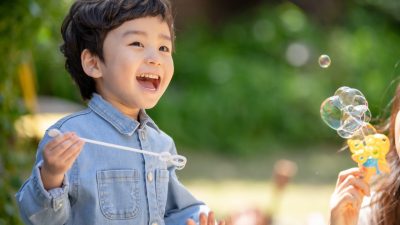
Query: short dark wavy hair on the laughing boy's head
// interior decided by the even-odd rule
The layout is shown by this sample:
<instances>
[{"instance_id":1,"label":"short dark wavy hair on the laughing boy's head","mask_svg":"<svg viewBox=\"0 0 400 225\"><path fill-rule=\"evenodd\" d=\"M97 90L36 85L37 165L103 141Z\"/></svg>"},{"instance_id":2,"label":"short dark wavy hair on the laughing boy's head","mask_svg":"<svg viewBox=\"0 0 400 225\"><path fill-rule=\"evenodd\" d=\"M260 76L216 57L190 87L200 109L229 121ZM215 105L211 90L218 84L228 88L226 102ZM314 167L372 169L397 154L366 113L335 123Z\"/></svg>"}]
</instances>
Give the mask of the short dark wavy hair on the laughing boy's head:
<instances>
[{"instance_id":1,"label":"short dark wavy hair on the laughing boy's head","mask_svg":"<svg viewBox=\"0 0 400 225\"><path fill-rule=\"evenodd\" d=\"M60 50L66 58L65 68L78 85L84 100L92 97L96 86L94 79L83 71L82 51L88 49L104 61L103 43L107 33L125 21L146 16L161 16L174 40L169 0L77 0L71 6L61 26L64 43Z\"/></svg>"}]
</instances>

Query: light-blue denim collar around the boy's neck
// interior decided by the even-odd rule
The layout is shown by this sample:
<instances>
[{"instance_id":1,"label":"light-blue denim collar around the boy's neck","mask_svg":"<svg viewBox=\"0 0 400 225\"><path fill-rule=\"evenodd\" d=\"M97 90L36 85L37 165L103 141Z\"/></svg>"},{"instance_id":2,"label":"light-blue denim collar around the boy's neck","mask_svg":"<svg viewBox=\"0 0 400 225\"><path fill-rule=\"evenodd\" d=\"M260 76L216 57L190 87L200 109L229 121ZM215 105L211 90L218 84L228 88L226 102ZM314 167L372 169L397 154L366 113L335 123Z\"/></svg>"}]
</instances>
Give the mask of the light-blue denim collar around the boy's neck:
<instances>
[{"instance_id":1,"label":"light-blue denim collar around the boy's neck","mask_svg":"<svg viewBox=\"0 0 400 225\"><path fill-rule=\"evenodd\" d=\"M89 108L91 108L96 114L102 117L104 120L109 122L115 129L117 129L121 134L132 135L136 129L140 126L149 125L155 130L160 132L160 129L154 123L154 121L147 115L144 109L139 111L139 121L136 121L114 106L109 102L104 100L100 95L94 93L92 99L90 99Z\"/></svg>"}]
</instances>

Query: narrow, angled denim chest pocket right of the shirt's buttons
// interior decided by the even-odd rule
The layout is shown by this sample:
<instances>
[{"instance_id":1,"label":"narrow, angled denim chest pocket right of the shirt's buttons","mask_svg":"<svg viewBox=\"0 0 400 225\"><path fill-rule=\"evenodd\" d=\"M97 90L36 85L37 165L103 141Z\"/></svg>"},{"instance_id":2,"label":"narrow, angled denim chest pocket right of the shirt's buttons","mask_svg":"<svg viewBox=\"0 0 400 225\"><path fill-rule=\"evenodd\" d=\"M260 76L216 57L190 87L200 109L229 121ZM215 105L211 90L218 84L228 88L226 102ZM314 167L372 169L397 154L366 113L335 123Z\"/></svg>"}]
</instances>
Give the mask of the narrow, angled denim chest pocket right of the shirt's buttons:
<instances>
[{"instance_id":1,"label":"narrow, angled denim chest pocket right of the shirt's buttons","mask_svg":"<svg viewBox=\"0 0 400 225\"><path fill-rule=\"evenodd\" d=\"M164 216L165 205L167 204L168 196L169 171L165 169L159 169L156 173L157 203L160 210L160 215Z\"/></svg>"}]
</instances>

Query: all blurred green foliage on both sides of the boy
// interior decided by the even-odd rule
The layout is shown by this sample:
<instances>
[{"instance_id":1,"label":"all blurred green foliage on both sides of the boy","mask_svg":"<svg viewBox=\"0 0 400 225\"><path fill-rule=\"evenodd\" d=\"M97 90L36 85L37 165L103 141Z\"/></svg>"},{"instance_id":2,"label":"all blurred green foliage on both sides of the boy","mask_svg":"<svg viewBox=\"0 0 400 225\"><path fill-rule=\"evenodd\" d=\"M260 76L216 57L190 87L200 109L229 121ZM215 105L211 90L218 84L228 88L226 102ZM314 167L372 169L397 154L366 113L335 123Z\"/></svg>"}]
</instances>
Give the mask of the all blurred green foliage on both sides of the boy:
<instances>
[{"instance_id":1,"label":"all blurred green foliage on both sides of the boy","mask_svg":"<svg viewBox=\"0 0 400 225\"><path fill-rule=\"evenodd\" d=\"M388 105L398 76L395 1L355 1L339 22L320 24L295 5L257 7L224 24L204 20L177 34L175 75L149 110L178 147L252 154L338 143L320 119L322 101L340 86L360 89L373 116ZM14 194L28 176L35 141L16 137L26 109L17 68L32 61L40 95L80 101L59 52L69 0L0 2L0 225L19 224ZM329 68L318 65L328 54ZM396 82L395 82L396 83Z\"/></svg>"}]
</instances>

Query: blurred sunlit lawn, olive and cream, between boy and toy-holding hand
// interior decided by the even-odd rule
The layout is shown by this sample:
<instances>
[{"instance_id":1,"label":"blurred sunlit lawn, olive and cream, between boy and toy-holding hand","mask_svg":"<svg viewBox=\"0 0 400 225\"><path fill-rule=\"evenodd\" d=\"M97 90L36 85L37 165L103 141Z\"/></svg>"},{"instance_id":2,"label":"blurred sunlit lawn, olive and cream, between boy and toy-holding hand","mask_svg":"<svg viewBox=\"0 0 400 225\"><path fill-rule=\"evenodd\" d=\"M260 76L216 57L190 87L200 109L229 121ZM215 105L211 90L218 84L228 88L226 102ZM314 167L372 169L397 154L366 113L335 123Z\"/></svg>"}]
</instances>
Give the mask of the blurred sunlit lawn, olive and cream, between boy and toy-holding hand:
<instances>
[{"instance_id":1,"label":"blurred sunlit lawn, olive and cream, between boy and toy-holding hand","mask_svg":"<svg viewBox=\"0 0 400 225\"><path fill-rule=\"evenodd\" d=\"M220 217L257 208L274 212L275 224L323 225L328 221L337 174L356 166L349 152L338 152L339 148L240 157L181 151L188 163L178 176ZM295 162L298 172L275 204L271 176L274 163L282 158Z\"/></svg>"}]
</instances>

